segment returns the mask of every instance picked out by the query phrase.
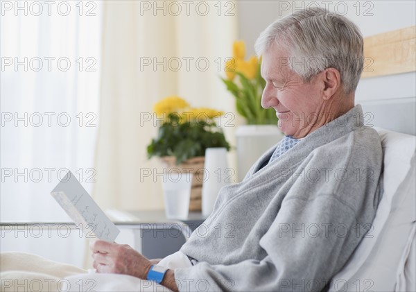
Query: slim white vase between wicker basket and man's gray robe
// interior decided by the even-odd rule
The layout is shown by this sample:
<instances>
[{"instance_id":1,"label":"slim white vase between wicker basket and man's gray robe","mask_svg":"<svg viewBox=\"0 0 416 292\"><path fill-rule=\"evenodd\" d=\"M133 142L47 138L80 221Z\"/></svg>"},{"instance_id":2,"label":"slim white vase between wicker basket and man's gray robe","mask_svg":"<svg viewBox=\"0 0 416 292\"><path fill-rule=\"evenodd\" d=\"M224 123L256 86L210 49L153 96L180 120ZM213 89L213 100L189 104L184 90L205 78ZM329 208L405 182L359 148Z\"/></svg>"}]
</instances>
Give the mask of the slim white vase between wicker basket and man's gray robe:
<instances>
[{"instance_id":1,"label":"slim white vase between wicker basket and man's gray robe","mask_svg":"<svg viewBox=\"0 0 416 292\"><path fill-rule=\"evenodd\" d=\"M207 148L202 183L202 215L209 216L221 187L229 184L227 149Z\"/></svg>"}]
</instances>

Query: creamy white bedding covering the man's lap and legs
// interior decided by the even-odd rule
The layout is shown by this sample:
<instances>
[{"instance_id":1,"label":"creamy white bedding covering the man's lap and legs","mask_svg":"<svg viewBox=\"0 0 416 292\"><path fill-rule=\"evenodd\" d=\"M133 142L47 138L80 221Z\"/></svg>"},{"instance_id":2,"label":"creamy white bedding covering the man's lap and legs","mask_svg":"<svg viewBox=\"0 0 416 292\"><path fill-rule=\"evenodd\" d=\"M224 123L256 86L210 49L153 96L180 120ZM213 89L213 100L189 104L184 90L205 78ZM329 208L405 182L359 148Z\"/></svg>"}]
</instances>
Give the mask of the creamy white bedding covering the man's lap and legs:
<instances>
[{"instance_id":1,"label":"creamy white bedding covering the man's lap and legs","mask_svg":"<svg viewBox=\"0 0 416 292\"><path fill-rule=\"evenodd\" d=\"M166 268L191 266L188 257L175 252L159 262ZM88 273L87 270L58 263L25 252L4 252L0 256L3 292L14 291L170 291L164 286L137 277Z\"/></svg>"}]
</instances>

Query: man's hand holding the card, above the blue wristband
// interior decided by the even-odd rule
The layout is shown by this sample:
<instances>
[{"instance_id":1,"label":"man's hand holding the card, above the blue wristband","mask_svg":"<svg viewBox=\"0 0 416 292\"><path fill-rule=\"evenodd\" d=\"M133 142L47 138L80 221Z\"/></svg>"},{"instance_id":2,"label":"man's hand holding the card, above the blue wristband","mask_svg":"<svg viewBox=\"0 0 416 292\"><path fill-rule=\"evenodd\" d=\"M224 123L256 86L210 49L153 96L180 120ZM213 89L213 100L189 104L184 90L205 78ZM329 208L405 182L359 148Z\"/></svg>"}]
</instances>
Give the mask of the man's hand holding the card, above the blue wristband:
<instances>
[{"instance_id":1,"label":"man's hand holding the card, above the blue wristband","mask_svg":"<svg viewBox=\"0 0 416 292\"><path fill-rule=\"evenodd\" d=\"M98 273L125 274L145 279L152 263L127 245L95 241L90 246Z\"/></svg>"}]
</instances>

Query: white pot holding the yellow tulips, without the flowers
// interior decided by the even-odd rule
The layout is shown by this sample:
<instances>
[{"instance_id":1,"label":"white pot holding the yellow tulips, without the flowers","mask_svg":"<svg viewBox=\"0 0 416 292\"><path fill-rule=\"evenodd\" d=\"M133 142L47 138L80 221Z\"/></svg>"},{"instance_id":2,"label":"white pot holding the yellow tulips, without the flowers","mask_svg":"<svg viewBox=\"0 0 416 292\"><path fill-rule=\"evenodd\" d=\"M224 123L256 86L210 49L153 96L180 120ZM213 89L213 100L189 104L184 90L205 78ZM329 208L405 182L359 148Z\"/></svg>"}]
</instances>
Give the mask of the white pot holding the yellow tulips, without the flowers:
<instances>
[{"instance_id":1,"label":"white pot holding the yellow tulips, without the flowers","mask_svg":"<svg viewBox=\"0 0 416 292\"><path fill-rule=\"evenodd\" d=\"M244 125L236 130L237 178L243 180L250 167L284 134L275 125Z\"/></svg>"}]
</instances>

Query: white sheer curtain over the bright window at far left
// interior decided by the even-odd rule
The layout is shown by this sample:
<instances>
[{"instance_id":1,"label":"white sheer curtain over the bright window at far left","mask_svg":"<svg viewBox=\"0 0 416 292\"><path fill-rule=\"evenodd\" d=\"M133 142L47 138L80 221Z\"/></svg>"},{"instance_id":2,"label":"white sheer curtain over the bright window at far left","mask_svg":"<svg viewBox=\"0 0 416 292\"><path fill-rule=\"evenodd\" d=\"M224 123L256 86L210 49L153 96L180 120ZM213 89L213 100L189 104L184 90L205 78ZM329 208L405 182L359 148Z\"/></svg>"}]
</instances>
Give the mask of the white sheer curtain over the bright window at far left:
<instances>
[{"instance_id":1,"label":"white sheer curtain over the bright window at far left","mask_svg":"<svg viewBox=\"0 0 416 292\"><path fill-rule=\"evenodd\" d=\"M101 2L52 2L1 3L2 223L70 221L50 191L67 169L87 191L96 180ZM1 250L73 261L73 241L58 248L33 232L8 232Z\"/></svg>"}]
</instances>

